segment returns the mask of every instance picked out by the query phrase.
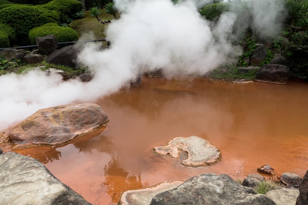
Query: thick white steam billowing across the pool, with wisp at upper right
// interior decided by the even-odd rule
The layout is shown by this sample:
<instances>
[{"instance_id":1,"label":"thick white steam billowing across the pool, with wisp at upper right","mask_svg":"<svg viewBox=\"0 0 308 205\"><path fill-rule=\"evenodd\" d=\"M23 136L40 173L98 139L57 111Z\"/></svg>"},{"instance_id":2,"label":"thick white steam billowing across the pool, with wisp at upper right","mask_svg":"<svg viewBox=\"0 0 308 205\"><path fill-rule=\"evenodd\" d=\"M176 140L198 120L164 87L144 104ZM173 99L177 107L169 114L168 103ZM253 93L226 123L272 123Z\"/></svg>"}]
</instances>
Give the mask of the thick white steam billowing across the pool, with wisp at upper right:
<instances>
[{"instance_id":1,"label":"thick white steam billowing across the pool, with wisp at upper right","mask_svg":"<svg viewBox=\"0 0 308 205\"><path fill-rule=\"evenodd\" d=\"M238 55L227 40L237 17L226 13L210 25L198 13L198 6L208 1L116 0L122 14L106 31L111 47L101 51L94 43L86 44L80 55L95 74L92 81L62 82L60 75L41 71L0 76L0 130L42 108L93 101L116 92L146 71L160 68L169 78L202 75L227 62ZM255 8L255 29L277 30L282 7L274 1L247 1ZM271 11L260 13L264 5Z\"/></svg>"}]
</instances>

